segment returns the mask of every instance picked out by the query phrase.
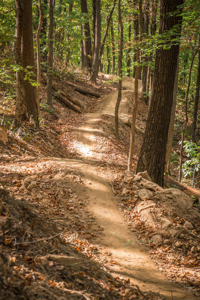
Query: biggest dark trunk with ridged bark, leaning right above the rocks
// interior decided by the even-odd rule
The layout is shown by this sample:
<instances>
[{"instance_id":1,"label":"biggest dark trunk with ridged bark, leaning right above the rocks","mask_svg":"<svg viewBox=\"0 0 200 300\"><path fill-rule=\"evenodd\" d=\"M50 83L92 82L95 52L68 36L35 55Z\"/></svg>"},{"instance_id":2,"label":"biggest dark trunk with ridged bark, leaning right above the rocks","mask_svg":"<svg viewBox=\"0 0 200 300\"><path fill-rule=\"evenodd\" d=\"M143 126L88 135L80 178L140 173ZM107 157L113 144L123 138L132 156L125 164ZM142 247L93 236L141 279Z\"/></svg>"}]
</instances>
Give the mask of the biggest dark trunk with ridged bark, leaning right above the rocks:
<instances>
[{"instance_id":1,"label":"biggest dark trunk with ridged bark, leaning right above the rocks","mask_svg":"<svg viewBox=\"0 0 200 300\"><path fill-rule=\"evenodd\" d=\"M176 33L171 33L170 39L176 38L169 49L157 47L153 73L152 93L139 153L136 172L147 170L153 182L163 186L164 162L168 127L170 122L173 86L179 52L179 35L181 30L180 12L175 13L177 6L183 0L161 0L159 34L167 32L176 26Z\"/></svg>"}]
</instances>

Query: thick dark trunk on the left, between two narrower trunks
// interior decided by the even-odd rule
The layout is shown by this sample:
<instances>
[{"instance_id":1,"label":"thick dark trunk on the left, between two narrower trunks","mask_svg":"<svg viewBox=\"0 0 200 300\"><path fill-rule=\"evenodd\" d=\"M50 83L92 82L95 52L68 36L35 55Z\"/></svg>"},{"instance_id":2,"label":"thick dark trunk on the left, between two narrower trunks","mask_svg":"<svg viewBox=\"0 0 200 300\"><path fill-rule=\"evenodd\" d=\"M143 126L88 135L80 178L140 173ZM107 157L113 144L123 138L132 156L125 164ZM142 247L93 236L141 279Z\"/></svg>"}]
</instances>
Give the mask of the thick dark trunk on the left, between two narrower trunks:
<instances>
[{"instance_id":1,"label":"thick dark trunk on the left, between two narrower trunks","mask_svg":"<svg viewBox=\"0 0 200 300\"><path fill-rule=\"evenodd\" d=\"M21 60L23 68L28 67L28 71L35 73L34 66L34 49L32 36L32 0L23 0L23 22L22 22L22 39L21 39ZM25 72L23 72L25 77ZM30 77L35 80L35 75ZM30 83L30 80L23 80L23 113L27 119L37 122L36 109L36 87Z\"/></svg>"}]
</instances>

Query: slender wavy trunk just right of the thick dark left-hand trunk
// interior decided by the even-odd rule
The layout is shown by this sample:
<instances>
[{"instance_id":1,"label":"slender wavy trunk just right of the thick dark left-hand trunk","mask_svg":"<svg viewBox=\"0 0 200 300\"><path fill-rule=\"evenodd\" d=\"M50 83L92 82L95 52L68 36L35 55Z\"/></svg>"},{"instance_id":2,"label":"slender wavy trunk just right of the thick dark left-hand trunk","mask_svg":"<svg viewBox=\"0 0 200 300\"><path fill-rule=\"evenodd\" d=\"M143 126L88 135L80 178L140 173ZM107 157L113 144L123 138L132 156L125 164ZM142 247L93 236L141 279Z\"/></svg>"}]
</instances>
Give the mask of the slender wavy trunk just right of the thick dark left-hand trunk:
<instances>
[{"instance_id":1,"label":"slender wavy trunk just right of the thick dark left-hand trunk","mask_svg":"<svg viewBox=\"0 0 200 300\"><path fill-rule=\"evenodd\" d=\"M41 31L42 20L43 20L43 11L41 0L38 0L38 8L39 8L39 24L36 32L36 44L37 44L37 87L36 87L36 103L37 103L37 115L39 117L39 88L40 88L40 79L41 79L41 67L40 67L40 42L39 42L39 34Z\"/></svg>"}]
</instances>

